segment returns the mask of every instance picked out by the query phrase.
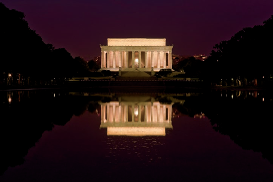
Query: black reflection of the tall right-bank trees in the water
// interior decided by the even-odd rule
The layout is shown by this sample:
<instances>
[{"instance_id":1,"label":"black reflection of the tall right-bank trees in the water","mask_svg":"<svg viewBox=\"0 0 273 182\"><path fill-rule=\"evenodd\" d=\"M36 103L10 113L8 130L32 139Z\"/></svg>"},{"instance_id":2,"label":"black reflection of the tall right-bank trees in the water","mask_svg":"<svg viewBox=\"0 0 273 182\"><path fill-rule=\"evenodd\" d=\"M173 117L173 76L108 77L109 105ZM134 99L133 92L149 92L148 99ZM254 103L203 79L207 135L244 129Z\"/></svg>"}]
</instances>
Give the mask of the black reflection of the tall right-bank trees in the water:
<instances>
[{"instance_id":1,"label":"black reflection of the tall right-bank trees in the water","mask_svg":"<svg viewBox=\"0 0 273 182\"><path fill-rule=\"evenodd\" d=\"M221 96L222 95L222 96ZM204 107L215 131L229 135L243 149L262 152L273 164L272 95L258 91L211 92ZM265 100L266 98L266 100Z\"/></svg>"}]
</instances>

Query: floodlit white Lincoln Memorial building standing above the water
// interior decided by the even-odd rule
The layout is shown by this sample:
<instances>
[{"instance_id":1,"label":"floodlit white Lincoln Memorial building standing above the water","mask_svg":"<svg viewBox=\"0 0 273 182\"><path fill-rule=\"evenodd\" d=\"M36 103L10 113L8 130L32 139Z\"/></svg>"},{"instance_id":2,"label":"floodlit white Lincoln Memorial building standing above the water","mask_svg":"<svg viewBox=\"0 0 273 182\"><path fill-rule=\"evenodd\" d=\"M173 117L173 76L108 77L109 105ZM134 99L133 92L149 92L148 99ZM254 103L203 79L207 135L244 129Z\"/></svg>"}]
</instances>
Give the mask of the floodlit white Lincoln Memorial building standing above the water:
<instances>
[{"instance_id":1,"label":"floodlit white Lincoln Memorial building standing above the water","mask_svg":"<svg viewBox=\"0 0 273 182\"><path fill-rule=\"evenodd\" d=\"M173 46L165 38L108 38L101 48L101 69L110 71L159 71L172 69Z\"/></svg>"}]
</instances>

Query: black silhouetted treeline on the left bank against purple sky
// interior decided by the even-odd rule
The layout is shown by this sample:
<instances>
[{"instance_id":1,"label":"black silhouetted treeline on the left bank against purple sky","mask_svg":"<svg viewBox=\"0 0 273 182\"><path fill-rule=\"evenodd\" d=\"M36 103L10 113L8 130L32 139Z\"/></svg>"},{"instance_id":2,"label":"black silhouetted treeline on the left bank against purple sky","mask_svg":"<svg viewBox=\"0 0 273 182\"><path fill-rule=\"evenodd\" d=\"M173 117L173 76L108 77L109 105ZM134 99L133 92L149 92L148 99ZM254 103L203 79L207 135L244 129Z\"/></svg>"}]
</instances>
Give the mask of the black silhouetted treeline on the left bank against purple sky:
<instances>
[{"instance_id":1,"label":"black silhouetted treeline on the left bank against purple sky","mask_svg":"<svg viewBox=\"0 0 273 182\"><path fill-rule=\"evenodd\" d=\"M45 44L24 18L23 12L0 2L0 84L56 84L98 68L94 61L90 69L83 58Z\"/></svg>"}]
</instances>

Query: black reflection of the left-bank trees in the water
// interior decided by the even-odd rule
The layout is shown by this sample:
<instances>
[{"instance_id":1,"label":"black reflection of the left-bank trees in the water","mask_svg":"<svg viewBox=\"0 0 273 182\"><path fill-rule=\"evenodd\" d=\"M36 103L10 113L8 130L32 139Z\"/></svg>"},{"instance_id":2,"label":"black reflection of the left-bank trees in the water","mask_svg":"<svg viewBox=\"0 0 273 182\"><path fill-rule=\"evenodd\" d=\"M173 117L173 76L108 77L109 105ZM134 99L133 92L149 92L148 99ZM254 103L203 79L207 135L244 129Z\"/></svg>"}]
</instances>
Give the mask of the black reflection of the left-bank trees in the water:
<instances>
[{"instance_id":1,"label":"black reflection of the left-bank trees in the water","mask_svg":"<svg viewBox=\"0 0 273 182\"><path fill-rule=\"evenodd\" d=\"M64 92L0 92L0 174L9 166L24 162L28 150L35 146L44 131L54 125L64 126L73 115L85 110L94 112L102 97L70 96Z\"/></svg>"}]
</instances>

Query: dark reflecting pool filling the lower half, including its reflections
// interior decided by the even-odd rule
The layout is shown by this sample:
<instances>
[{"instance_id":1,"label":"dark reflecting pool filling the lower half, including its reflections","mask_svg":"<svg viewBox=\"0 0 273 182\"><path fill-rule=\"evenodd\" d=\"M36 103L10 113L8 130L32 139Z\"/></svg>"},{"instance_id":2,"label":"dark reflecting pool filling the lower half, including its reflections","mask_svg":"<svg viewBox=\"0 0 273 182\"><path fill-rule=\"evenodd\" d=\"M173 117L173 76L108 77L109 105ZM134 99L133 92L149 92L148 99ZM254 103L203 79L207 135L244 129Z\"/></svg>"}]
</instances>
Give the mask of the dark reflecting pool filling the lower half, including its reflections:
<instances>
[{"instance_id":1,"label":"dark reflecting pool filling the lower half, including its reflections","mask_svg":"<svg viewBox=\"0 0 273 182\"><path fill-rule=\"evenodd\" d=\"M0 92L1 182L272 182L262 91Z\"/></svg>"}]
</instances>

